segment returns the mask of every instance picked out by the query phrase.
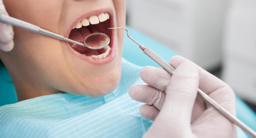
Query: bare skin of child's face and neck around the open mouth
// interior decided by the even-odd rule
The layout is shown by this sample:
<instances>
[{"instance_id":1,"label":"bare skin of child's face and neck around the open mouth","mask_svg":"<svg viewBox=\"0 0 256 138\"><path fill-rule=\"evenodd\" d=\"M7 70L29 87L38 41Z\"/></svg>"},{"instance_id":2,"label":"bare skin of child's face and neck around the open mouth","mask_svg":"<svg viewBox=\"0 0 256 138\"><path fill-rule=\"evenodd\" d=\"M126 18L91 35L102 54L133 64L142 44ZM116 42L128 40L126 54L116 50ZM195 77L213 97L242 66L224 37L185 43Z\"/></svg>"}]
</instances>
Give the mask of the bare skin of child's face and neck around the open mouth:
<instances>
[{"instance_id":1,"label":"bare skin of child's face and neck around the open mouth","mask_svg":"<svg viewBox=\"0 0 256 138\"><path fill-rule=\"evenodd\" d=\"M10 16L65 37L78 18L87 13L92 16L99 10L112 12L110 18L115 27L125 26L125 0L3 0L3 3ZM122 30L114 34L114 58L101 65L82 60L65 41L18 27L13 30L14 48L0 51L0 58L13 79L19 101L60 92L103 96L118 85Z\"/></svg>"}]
</instances>

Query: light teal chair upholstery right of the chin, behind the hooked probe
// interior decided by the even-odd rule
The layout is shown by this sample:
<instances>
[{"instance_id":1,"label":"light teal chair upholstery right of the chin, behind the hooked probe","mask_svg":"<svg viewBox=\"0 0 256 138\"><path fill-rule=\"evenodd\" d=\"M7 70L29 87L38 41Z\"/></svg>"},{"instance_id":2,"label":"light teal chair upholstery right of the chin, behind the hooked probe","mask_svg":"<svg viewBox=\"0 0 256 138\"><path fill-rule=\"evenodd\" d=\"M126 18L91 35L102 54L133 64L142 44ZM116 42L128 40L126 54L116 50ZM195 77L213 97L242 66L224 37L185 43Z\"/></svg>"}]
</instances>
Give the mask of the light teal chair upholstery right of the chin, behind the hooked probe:
<instances>
[{"instance_id":1,"label":"light teal chair upholstery right of the chin, behind the hooked probe","mask_svg":"<svg viewBox=\"0 0 256 138\"><path fill-rule=\"evenodd\" d=\"M133 37L138 43L145 45L157 54L164 58L165 61L169 62L169 59L177 55L171 49L166 48L164 45L154 41L153 39L141 34L130 27L126 27L129 30L129 35ZM123 46L123 58L135 63L139 66L156 66L160 67L158 64L153 62L148 56L146 56L140 48L128 37L125 37ZM256 114L250 109L250 107L245 104L240 98L236 97L236 115L237 117L247 124L250 128L256 131Z\"/></svg>"}]
</instances>

